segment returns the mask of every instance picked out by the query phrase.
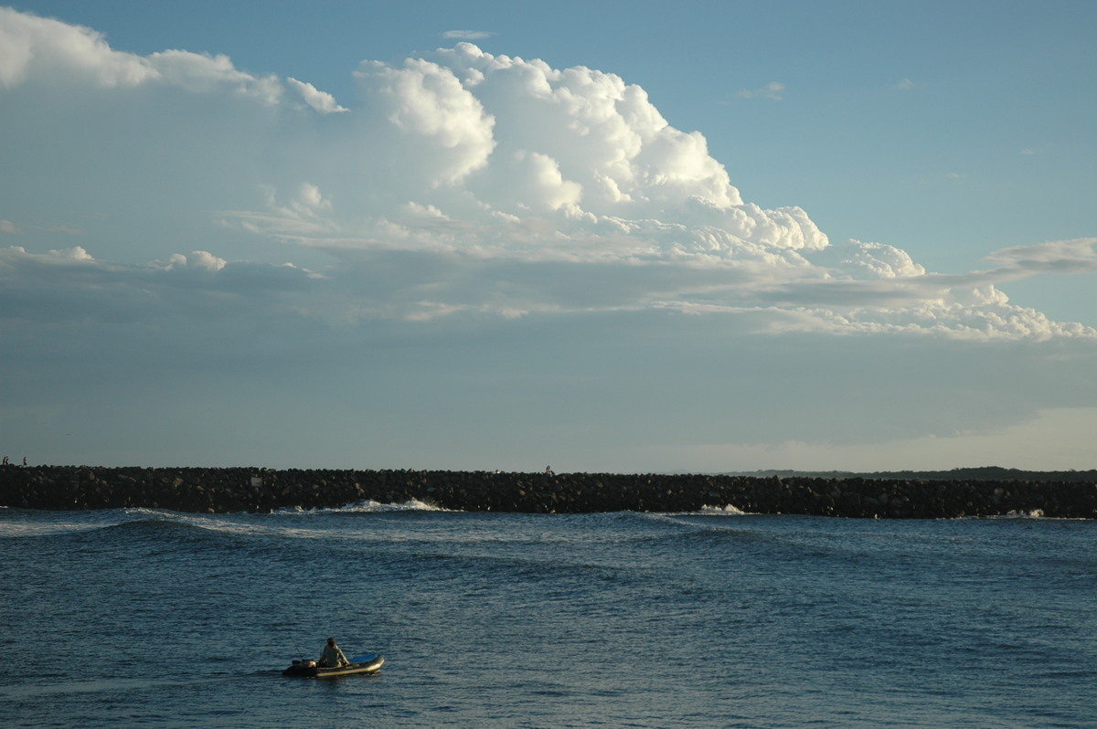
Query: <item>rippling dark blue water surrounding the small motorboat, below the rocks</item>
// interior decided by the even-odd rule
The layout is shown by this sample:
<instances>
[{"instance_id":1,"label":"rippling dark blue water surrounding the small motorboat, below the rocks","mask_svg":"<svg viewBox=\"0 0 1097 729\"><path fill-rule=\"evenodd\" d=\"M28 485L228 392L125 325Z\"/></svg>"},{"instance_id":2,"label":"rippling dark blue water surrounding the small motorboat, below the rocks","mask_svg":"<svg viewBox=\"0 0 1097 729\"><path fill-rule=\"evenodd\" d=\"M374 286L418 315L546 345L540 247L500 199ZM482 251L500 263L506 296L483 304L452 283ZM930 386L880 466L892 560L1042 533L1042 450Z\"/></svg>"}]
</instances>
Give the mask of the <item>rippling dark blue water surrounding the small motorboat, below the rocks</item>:
<instances>
[{"instance_id":1,"label":"rippling dark blue water surrounding the small motorboat, below the rocks","mask_svg":"<svg viewBox=\"0 0 1097 729\"><path fill-rule=\"evenodd\" d=\"M0 510L0 646L11 726L1093 727L1097 523Z\"/></svg>"}]
</instances>

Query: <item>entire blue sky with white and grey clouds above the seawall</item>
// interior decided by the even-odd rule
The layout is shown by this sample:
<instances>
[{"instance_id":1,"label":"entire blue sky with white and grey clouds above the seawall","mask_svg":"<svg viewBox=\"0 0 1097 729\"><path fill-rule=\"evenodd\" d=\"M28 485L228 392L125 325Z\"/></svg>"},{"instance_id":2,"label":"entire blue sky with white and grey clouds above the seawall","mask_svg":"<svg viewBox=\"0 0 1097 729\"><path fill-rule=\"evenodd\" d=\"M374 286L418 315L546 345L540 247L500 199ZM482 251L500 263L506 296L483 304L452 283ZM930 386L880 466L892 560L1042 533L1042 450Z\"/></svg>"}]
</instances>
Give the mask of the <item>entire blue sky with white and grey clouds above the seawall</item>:
<instances>
[{"instance_id":1,"label":"entire blue sky with white and grey clouds above the seawall","mask_svg":"<svg viewBox=\"0 0 1097 729\"><path fill-rule=\"evenodd\" d=\"M0 452L1097 468L1097 3L0 5Z\"/></svg>"}]
</instances>

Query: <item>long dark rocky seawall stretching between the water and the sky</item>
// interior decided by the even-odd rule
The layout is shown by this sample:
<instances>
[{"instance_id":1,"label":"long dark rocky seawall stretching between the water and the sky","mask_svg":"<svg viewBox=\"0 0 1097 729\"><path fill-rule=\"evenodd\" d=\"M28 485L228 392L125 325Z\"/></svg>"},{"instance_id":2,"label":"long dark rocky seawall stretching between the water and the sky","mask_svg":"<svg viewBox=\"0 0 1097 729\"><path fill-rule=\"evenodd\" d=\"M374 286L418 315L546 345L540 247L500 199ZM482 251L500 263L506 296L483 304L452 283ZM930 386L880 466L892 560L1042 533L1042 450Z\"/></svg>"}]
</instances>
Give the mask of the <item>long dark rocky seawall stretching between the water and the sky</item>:
<instances>
[{"instance_id":1,"label":"long dark rocky seawall stretching between the water and the sky","mask_svg":"<svg viewBox=\"0 0 1097 729\"><path fill-rule=\"evenodd\" d=\"M422 501L461 511L676 512L734 506L760 514L941 519L1040 514L1097 519L1097 482L756 478L263 468L0 467L0 506L183 512Z\"/></svg>"}]
</instances>

